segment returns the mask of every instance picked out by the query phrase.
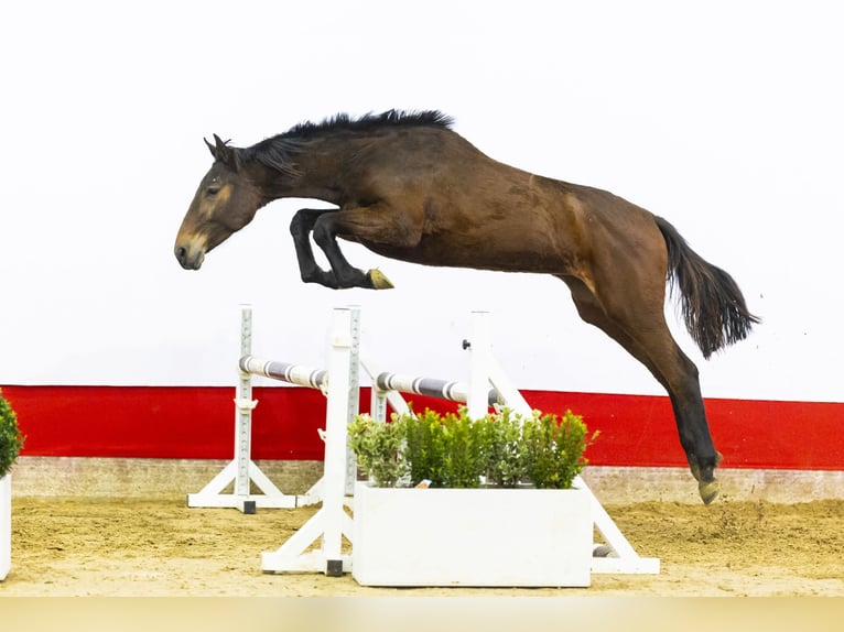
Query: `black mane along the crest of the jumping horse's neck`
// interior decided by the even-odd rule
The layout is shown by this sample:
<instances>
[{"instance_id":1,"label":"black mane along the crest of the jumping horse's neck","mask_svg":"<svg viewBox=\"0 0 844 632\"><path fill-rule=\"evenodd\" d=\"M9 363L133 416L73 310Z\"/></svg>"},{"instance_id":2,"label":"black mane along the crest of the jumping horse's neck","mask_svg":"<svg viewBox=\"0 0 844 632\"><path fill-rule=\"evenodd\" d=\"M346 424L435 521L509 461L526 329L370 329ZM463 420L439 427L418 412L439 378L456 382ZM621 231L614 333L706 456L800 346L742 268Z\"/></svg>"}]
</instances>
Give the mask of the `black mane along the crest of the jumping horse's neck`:
<instances>
[{"instance_id":1,"label":"black mane along the crest of the jumping horse's neck","mask_svg":"<svg viewBox=\"0 0 844 632\"><path fill-rule=\"evenodd\" d=\"M451 129L452 117L439 110L404 111L387 110L380 115L368 113L351 118L338 113L320 123L305 121L291 128L284 133L262 140L250 148L240 150L241 157L258 162L288 175L297 175L292 157L309 139L315 135L329 134L337 131L366 132L387 127L441 127Z\"/></svg>"}]
</instances>

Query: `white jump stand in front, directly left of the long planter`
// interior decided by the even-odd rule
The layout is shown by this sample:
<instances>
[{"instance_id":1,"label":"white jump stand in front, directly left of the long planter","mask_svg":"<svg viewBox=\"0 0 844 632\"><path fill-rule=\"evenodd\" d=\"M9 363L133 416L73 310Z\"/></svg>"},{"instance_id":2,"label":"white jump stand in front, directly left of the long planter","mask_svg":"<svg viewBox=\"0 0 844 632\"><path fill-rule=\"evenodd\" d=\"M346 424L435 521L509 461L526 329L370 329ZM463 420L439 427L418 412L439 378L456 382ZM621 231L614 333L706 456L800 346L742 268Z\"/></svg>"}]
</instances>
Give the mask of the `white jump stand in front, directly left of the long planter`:
<instances>
[{"instance_id":1,"label":"white jump stand in front, directly left of the long planter","mask_svg":"<svg viewBox=\"0 0 844 632\"><path fill-rule=\"evenodd\" d=\"M357 414L358 401L357 314L351 309L334 310L325 414L323 505L280 548L261 554L264 573L311 571L336 577L351 570L351 557L343 554L342 545L344 535L351 542L351 519L344 510L344 493L347 478L346 427ZM320 536L322 546L306 552Z\"/></svg>"}]
</instances>

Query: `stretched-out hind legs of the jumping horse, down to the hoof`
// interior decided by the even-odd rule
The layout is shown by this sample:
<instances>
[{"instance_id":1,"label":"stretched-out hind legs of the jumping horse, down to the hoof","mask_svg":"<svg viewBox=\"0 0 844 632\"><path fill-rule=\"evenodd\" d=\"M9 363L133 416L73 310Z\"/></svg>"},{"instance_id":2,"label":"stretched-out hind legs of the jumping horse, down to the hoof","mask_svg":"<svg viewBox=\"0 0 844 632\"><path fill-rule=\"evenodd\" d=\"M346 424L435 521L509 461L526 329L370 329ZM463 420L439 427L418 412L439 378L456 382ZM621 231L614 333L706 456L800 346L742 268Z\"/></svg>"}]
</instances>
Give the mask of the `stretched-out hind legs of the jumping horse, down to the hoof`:
<instances>
[{"instance_id":1,"label":"stretched-out hind legs of the jumping horse, down to the hoof","mask_svg":"<svg viewBox=\"0 0 844 632\"><path fill-rule=\"evenodd\" d=\"M674 411L680 444L699 481L701 498L708 504L718 494L714 470L719 460L710 435L701 396L697 368L682 352L664 322L662 303L650 307L629 304L620 309L602 302L582 281L561 276L572 291L577 313L616 340L645 364L668 391ZM642 297L642 294L635 293ZM647 293L645 293L647 295ZM660 294L661 296L661 294ZM657 304L659 308L657 308Z\"/></svg>"}]
</instances>

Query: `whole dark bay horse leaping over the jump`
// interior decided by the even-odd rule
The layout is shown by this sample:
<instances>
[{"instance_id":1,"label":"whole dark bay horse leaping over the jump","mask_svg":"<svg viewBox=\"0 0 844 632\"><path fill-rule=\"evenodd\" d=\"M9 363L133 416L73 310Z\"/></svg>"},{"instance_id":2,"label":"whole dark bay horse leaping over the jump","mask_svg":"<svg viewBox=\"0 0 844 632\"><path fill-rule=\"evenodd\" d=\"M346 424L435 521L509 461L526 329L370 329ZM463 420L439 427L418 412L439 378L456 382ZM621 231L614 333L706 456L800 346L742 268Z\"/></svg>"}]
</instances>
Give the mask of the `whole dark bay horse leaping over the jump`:
<instances>
[{"instance_id":1,"label":"whole dark bay horse leaping over the jump","mask_svg":"<svg viewBox=\"0 0 844 632\"><path fill-rule=\"evenodd\" d=\"M679 290L686 328L704 358L748 336L759 319L724 270L695 253L661 217L606 190L497 162L439 111L304 122L249 148L216 134L214 164L175 241L186 270L248 225L270 201L320 199L291 221L302 281L332 288L392 287L354 268L337 238L387 258L556 276L581 318L639 360L671 399L680 443L704 503L718 494L715 450L697 368L664 318L666 285ZM313 241L331 265L314 260Z\"/></svg>"}]
</instances>

